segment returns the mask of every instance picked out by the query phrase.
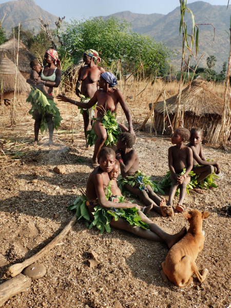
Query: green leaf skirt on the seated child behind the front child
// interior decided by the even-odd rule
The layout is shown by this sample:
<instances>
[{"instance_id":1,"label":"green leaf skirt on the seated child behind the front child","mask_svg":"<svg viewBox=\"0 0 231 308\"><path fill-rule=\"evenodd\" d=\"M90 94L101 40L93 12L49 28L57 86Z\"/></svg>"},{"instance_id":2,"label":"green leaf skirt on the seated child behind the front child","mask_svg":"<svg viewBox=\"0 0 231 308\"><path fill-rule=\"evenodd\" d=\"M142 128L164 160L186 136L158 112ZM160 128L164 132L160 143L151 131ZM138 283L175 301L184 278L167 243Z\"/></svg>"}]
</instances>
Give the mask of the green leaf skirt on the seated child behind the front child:
<instances>
[{"instance_id":1,"label":"green leaf skirt on the seated child behind the front child","mask_svg":"<svg viewBox=\"0 0 231 308\"><path fill-rule=\"evenodd\" d=\"M145 190L146 192L148 192L146 186L150 185L153 191L160 191L162 195L165 195L161 185L159 185L157 181L152 181L151 176L147 177L142 174L140 170L138 170L133 176L118 178L118 187L120 188L121 192L124 195L126 194L128 196L132 196L131 192L127 190L125 184L128 184L131 187L138 187L139 189Z\"/></svg>"}]
</instances>

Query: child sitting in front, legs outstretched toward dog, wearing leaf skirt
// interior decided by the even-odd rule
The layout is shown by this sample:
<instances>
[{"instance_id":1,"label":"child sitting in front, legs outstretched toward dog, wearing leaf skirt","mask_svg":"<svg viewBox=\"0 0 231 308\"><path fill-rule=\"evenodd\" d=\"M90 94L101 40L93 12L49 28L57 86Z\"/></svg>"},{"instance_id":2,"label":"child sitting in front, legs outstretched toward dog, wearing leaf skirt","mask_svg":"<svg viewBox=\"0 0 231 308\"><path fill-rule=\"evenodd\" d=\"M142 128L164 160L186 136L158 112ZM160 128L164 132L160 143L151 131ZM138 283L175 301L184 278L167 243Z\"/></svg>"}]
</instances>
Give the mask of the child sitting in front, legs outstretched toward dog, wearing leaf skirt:
<instances>
[{"instance_id":1,"label":"child sitting in front, legs outstretched toward dog, wearing leaf skirt","mask_svg":"<svg viewBox=\"0 0 231 308\"><path fill-rule=\"evenodd\" d=\"M76 209L78 219L87 220L89 228L96 225L101 233L104 229L110 232L110 227L126 230L134 235L152 241L164 241L170 248L185 234L186 228L175 234L169 235L148 219L140 206L131 203L109 201L110 182L108 173L114 167L115 152L111 148L103 148L98 155L99 166L91 172L86 188L86 196L80 196L69 209Z\"/></svg>"}]
</instances>

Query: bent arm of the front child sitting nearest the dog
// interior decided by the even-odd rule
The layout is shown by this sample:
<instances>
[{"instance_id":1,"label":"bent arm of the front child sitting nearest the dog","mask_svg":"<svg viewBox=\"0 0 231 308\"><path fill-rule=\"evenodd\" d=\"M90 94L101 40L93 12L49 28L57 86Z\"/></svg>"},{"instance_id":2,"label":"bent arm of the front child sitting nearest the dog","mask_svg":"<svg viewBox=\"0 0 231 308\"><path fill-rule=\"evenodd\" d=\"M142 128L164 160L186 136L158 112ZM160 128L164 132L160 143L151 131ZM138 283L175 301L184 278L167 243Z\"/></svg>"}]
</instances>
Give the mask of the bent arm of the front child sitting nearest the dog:
<instances>
[{"instance_id":1,"label":"bent arm of the front child sitting nearest the dog","mask_svg":"<svg viewBox=\"0 0 231 308\"><path fill-rule=\"evenodd\" d=\"M93 181L94 181L94 187L95 187L95 191L97 193L97 197L99 200L99 203L102 207L105 208L110 208L110 207L114 207L114 208L131 208L131 207L136 207L139 210L141 209L141 207L137 204L132 204L132 203L117 203L117 202L111 202L108 201L105 197L105 192L104 192L104 188L103 188L103 177L102 175L96 175L95 177L93 177Z\"/></svg>"}]
</instances>

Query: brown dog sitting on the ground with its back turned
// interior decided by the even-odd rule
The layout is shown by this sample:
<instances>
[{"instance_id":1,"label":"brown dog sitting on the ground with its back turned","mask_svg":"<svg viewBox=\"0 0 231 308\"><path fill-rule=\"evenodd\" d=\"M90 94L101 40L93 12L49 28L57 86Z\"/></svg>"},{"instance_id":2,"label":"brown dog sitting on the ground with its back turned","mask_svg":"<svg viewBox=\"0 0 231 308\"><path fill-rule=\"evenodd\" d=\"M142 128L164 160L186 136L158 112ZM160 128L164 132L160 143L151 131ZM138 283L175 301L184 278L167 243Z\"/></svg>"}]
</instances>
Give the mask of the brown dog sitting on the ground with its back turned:
<instances>
[{"instance_id":1,"label":"brown dog sitting on the ground with its back turned","mask_svg":"<svg viewBox=\"0 0 231 308\"><path fill-rule=\"evenodd\" d=\"M184 213L184 217L189 222L189 229L187 234L171 247L166 260L162 262L161 275L164 281L168 281L168 277L177 286L186 287L192 282L191 276L193 273L200 283L205 280L208 270L207 268L203 269L202 275L200 275L195 260L204 247L202 221L210 214L206 211L201 213L197 209Z\"/></svg>"}]
</instances>

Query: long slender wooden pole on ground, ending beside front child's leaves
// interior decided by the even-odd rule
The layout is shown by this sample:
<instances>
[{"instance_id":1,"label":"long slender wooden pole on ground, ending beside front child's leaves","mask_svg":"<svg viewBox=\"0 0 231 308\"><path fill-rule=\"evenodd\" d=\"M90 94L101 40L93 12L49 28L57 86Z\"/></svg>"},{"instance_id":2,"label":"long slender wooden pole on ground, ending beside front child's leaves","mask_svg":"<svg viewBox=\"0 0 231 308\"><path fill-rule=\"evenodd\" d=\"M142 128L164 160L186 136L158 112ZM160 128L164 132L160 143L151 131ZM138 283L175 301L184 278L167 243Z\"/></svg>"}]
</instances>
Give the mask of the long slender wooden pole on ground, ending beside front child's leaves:
<instances>
[{"instance_id":1,"label":"long slender wooden pole on ground, ending beside front child's leaves","mask_svg":"<svg viewBox=\"0 0 231 308\"><path fill-rule=\"evenodd\" d=\"M57 235L48 245L46 245L40 252L36 253L34 256L31 258L25 260L23 263L16 263L11 265L6 272L7 276L14 277L18 274L20 274L23 269L30 264L34 263L38 259L42 258L44 255L46 255L47 252L50 251L57 243L59 243L69 232L69 230L72 228L74 225L75 221L77 219L77 216L74 215L68 225L61 231L59 235Z\"/></svg>"}]
</instances>

